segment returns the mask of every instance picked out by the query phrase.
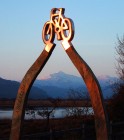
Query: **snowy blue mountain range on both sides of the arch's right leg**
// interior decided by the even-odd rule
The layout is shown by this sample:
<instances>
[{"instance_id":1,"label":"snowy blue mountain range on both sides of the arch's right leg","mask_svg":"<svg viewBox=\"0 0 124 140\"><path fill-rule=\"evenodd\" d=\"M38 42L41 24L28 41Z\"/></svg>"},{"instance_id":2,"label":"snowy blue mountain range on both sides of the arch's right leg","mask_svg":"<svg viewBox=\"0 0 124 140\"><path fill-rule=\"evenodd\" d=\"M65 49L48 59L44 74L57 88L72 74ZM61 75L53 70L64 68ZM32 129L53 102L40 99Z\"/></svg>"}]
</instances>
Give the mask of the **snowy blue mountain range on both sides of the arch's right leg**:
<instances>
[{"instance_id":1,"label":"snowy blue mountain range on both sides of the arch's right leg","mask_svg":"<svg viewBox=\"0 0 124 140\"><path fill-rule=\"evenodd\" d=\"M99 76L97 77L100 83L103 97L110 98L114 93L112 90L113 83L117 80L116 77ZM75 91L87 91L84 81L81 77L58 72L51 74L46 79L36 80L34 86L43 89L48 96L67 98L70 89Z\"/></svg>"}]
</instances>

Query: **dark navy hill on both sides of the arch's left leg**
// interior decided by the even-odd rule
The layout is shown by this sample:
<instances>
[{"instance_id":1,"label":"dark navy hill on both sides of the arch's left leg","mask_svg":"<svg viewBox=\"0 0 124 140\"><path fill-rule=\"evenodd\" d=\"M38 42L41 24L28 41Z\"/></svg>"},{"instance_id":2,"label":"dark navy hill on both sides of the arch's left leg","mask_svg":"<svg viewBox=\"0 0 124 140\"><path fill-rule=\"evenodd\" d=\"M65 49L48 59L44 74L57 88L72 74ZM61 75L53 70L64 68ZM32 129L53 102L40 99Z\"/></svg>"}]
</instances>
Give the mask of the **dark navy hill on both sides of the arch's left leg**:
<instances>
[{"instance_id":1,"label":"dark navy hill on both sides of the arch's left leg","mask_svg":"<svg viewBox=\"0 0 124 140\"><path fill-rule=\"evenodd\" d=\"M20 83L0 78L0 98L16 98ZM38 87L32 87L29 99L46 99L47 93Z\"/></svg>"}]
</instances>

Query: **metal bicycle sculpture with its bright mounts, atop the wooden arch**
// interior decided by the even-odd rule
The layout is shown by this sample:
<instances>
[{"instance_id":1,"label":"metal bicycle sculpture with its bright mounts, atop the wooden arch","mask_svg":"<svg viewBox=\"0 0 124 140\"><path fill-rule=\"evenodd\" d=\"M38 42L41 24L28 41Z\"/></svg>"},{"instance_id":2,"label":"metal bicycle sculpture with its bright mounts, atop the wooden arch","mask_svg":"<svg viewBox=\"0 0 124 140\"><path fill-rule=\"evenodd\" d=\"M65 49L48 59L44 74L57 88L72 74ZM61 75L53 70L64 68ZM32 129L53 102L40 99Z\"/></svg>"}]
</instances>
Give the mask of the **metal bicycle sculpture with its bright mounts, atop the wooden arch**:
<instances>
[{"instance_id":1,"label":"metal bicycle sculpture with its bright mounts, atop the wooden arch","mask_svg":"<svg viewBox=\"0 0 124 140\"><path fill-rule=\"evenodd\" d=\"M58 40L62 40L65 49L70 45L74 37L74 24L73 21L64 16L64 8L54 8L51 10L50 21L47 21L43 27L42 39L46 44L45 50L49 52L51 44L54 40L55 34ZM66 45L65 45L66 44Z\"/></svg>"}]
</instances>

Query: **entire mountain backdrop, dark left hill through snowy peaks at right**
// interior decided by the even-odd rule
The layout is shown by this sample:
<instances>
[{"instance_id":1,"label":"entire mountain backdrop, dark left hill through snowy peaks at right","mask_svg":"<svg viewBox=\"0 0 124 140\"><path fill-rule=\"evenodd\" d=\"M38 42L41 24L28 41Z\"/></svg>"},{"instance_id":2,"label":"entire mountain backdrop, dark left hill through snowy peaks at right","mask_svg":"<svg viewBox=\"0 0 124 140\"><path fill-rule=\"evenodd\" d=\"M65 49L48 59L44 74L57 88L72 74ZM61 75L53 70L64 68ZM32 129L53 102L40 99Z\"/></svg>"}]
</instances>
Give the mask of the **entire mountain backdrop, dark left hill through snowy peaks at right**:
<instances>
[{"instance_id":1,"label":"entire mountain backdrop, dark left hill through snowy peaks at right","mask_svg":"<svg viewBox=\"0 0 124 140\"><path fill-rule=\"evenodd\" d=\"M112 87L117 78L111 76L99 76L97 78L103 92L103 97L105 99L110 98L114 94ZM19 85L19 82L0 78L0 98L15 98ZM51 97L66 99L69 96L70 90L83 91L84 98L87 97L87 88L81 77L60 71L51 74L46 79L36 80L29 98L46 99Z\"/></svg>"}]
</instances>

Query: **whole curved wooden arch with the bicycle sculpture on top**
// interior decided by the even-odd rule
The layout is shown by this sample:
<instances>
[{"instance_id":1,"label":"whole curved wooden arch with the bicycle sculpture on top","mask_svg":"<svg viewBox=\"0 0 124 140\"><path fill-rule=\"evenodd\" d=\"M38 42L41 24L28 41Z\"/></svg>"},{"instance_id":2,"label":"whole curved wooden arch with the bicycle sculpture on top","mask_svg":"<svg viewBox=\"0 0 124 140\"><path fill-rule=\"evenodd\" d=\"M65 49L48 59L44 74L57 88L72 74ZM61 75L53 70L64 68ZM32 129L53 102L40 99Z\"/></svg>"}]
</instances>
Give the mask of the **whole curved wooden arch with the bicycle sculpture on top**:
<instances>
[{"instance_id":1,"label":"whole curved wooden arch with the bicycle sculpture on top","mask_svg":"<svg viewBox=\"0 0 124 140\"><path fill-rule=\"evenodd\" d=\"M19 140L21 137L25 105L30 88L55 48L55 44L53 43L55 34L57 35L58 40L62 40L62 46L82 76L89 91L95 115L97 140L109 139L108 118L99 83L90 67L76 52L71 43L74 37L74 25L71 19L64 16L64 10L64 8L53 8L51 10L50 21L46 22L43 27L42 39L45 43L45 48L27 71L18 89L12 117L10 140Z\"/></svg>"}]
</instances>

